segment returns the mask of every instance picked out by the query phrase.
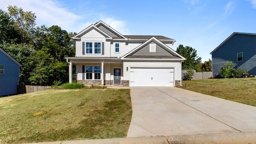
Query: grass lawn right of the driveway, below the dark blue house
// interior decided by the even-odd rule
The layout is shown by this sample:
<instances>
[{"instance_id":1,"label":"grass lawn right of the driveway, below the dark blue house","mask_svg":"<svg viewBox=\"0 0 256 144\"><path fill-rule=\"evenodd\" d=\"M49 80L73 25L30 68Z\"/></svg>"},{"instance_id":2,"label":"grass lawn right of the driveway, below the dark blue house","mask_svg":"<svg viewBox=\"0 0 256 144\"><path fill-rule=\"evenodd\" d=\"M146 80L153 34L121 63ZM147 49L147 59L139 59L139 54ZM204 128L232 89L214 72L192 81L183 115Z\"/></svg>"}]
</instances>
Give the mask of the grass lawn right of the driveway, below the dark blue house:
<instances>
[{"instance_id":1,"label":"grass lawn right of the driveway, below the dark blue house","mask_svg":"<svg viewBox=\"0 0 256 144\"><path fill-rule=\"evenodd\" d=\"M186 90L256 106L256 78L182 81Z\"/></svg>"}]
</instances>

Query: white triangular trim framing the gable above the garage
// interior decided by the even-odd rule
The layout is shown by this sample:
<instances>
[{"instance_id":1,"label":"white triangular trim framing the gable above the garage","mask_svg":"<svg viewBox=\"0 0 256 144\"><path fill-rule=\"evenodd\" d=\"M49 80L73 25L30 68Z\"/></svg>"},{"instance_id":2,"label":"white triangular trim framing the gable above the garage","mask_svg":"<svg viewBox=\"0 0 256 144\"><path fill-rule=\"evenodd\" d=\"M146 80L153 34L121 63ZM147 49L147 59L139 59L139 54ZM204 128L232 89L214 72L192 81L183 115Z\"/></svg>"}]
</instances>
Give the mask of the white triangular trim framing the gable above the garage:
<instances>
[{"instance_id":1,"label":"white triangular trim framing the gable above the garage","mask_svg":"<svg viewBox=\"0 0 256 144\"><path fill-rule=\"evenodd\" d=\"M121 60L124 59L134 59L135 58L125 58L126 56L128 56L129 54L132 54L133 52L136 52L136 50L146 46L147 44L149 44L150 42L155 42L156 44L159 44L163 47L165 47L166 49L170 50L170 52L172 52L172 54L180 57L181 59L145 59L145 58L137 58L137 60L186 60L186 58L184 58L183 56L181 56L180 54L178 54L177 52L175 52L174 50L172 50L170 47L166 46L164 43L162 43L161 41L159 41L157 38L152 37L149 40L147 40L146 42L144 42L143 44L141 44L140 46L138 46L137 48L134 48L133 50L131 50L130 52L128 52L127 54L125 54L124 56L122 56Z\"/></svg>"}]
</instances>

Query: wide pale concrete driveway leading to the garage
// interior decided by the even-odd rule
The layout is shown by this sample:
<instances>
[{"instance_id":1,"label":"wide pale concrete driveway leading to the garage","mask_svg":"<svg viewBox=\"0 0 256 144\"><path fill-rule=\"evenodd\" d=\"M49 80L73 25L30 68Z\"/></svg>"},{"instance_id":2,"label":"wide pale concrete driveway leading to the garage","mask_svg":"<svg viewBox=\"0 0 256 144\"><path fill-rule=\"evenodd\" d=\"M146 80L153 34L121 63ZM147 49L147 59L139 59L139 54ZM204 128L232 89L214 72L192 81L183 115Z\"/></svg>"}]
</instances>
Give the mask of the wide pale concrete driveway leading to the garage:
<instances>
[{"instance_id":1,"label":"wide pale concrete driveway leading to the garage","mask_svg":"<svg viewBox=\"0 0 256 144\"><path fill-rule=\"evenodd\" d=\"M256 131L256 107L175 87L130 87L127 137Z\"/></svg>"}]
</instances>

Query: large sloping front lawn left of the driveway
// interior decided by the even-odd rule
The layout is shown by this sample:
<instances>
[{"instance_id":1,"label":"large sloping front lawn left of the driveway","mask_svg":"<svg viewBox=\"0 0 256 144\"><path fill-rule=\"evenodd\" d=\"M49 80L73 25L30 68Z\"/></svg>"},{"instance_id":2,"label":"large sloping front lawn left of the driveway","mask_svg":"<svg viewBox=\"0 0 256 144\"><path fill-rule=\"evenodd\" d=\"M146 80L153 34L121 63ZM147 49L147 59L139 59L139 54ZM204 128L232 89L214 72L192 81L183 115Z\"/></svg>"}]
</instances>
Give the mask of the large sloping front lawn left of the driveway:
<instances>
[{"instance_id":1,"label":"large sloping front lawn left of the driveway","mask_svg":"<svg viewBox=\"0 0 256 144\"><path fill-rule=\"evenodd\" d=\"M0 143L126 137L129 89L49 89L0 98Z\"/></svg>"}]
</instances>

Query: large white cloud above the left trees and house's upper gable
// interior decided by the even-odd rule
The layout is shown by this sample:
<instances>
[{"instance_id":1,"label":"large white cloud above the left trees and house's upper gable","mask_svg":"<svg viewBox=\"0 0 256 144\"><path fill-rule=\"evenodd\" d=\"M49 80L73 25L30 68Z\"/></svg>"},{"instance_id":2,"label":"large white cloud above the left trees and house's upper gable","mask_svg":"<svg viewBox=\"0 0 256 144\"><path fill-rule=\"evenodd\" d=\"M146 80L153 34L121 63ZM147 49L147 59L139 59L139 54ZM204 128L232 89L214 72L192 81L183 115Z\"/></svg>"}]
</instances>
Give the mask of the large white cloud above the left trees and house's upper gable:
<instances>
[{"instance_id":1,"label":"large white cloud above the left trees and house's upper gable","mask_svg":"<svg viewBox=\"0 0 256 144\"><path fill-rule=\"evenodd\" d=\"M21 7L24 11L32 11L36 15L37 26L58 25L68 32L80 32L91 24L95 24L100 20L110 25L112 28L126 34L129 30L126 28L125 22L114 18L102 17L88 9L86 16L75 14L76 8L68 10L62 8L63 3L56 0L0 0L0 9L8 11L8 5ZM90 20L90 21L88 21Z\"/></svg>"}]
</instances>

